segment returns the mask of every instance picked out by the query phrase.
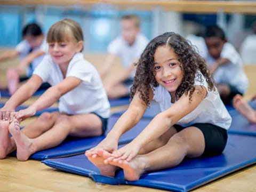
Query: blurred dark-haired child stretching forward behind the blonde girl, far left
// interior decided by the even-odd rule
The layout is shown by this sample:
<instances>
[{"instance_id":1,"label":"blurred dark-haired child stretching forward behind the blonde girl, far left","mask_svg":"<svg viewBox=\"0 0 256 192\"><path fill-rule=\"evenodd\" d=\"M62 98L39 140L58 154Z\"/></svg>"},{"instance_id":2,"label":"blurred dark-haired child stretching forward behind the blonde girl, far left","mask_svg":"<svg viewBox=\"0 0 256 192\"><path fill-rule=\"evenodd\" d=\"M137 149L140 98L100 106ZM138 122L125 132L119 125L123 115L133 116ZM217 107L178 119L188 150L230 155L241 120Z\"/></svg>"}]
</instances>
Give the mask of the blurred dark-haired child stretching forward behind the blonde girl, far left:
<instances>
[{"instance_id":1,"label":"blurred dark-haired child stretching forward behind the blonde girl, far left","mask_svg":"<svg viewBox=\"0 0 256 192\"><path fill-rule=\"evenodd\" d=\"M44 34L36 23L31 23L23 28L22 37L24 40L20 42L14 50L5 51L0 55L0 60L13 58L17 55L19 55L21 59L17 67L7 70L7 83L11 95L18 89L20 81L26 81L31 77L33 71L47 52ZM25 69L27 77L20 77Z\"/></svg>"}]
</instances>

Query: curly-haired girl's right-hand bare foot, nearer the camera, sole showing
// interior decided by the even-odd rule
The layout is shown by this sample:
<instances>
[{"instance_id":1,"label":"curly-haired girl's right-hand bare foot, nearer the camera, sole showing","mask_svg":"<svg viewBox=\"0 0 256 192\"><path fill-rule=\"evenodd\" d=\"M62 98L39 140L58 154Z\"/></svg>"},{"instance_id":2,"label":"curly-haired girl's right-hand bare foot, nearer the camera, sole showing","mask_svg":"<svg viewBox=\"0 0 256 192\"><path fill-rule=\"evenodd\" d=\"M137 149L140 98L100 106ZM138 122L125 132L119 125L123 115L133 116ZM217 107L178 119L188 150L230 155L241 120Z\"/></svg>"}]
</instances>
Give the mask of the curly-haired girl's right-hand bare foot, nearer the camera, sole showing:
<instances>
[{"instance_id":1,"label":"curly-haired girl's right-hand bare foot, nearer the camera, sole showing","mask_svg":"<svg viewBox=\"0 0 256 192\"><path fill-rule=\"evenodd\" d=\"M130 162L122 159L112 159L109 164L121 167L124 170L124 178L127 181L137 181L145 172L147 159L140 155L134 157Z\"/></svg>"}]
</instances>

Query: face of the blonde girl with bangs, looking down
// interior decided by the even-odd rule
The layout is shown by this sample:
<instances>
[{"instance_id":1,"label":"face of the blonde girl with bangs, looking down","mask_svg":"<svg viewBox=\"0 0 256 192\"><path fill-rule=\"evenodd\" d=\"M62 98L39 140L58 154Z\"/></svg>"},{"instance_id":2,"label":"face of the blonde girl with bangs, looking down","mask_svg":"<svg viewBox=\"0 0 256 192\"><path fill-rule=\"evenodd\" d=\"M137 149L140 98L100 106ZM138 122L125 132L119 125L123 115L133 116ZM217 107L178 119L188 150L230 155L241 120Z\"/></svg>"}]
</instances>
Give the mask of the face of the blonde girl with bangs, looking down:
<instances>
[{"instance_id":1,"label":"face of the blonde girl with bangs, looking down","mask_svg":"<svg viewBox=\"0 0 256 192\"><path fill-rule=\"evenodd\" d=\"M49 43L49 53L55 63L58 65L68 65L75 53L83 48L83 42L75 42L74 40L66 42Z\"/></svg>"}]
</instances>

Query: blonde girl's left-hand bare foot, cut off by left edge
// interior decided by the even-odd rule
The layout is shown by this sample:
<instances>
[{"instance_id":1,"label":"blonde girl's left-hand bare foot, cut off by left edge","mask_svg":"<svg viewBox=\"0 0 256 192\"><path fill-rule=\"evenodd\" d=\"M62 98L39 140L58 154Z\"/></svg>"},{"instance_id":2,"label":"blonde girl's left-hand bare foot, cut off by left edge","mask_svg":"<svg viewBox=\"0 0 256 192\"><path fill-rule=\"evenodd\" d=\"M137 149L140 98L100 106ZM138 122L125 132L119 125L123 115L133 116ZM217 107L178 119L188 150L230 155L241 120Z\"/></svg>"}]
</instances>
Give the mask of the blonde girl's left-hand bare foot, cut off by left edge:
<instances>
[{"instance_id":1,"label":"blonde girl's left-hand bare foot, cut off by left edge","mask_svg":"<svg viewBox=\"0 0 256 192\"><path fill-rule=\"evenodd\" d=\"M9 136L9 121L0 121L0 159L15 150L15 143L11 142Z\"/></svg>"}]
</instances>

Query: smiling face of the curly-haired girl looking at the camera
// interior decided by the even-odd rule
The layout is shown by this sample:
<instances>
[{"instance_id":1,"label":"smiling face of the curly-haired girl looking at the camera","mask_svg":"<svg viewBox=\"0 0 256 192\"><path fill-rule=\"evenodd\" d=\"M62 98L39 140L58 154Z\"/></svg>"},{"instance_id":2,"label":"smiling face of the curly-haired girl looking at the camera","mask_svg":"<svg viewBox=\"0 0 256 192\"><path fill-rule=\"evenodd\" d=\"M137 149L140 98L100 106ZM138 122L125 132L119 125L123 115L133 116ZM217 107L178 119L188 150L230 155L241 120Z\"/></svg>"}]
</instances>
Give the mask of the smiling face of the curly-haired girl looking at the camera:
<instances>
[{"instance_id":1,"label":"smiling face of the curly-haired girl looking at the camera","mask_svg":"<svg viewBox=\"0 0 256 192\"><path fill-rule=\"evenodd\" d=\"M175 98L175 92L183 79L183 71L178 59L178 55L170 46L159 46L154 54L155 79L171 93L172 98Z\"/></svg>"}]
</instances>

